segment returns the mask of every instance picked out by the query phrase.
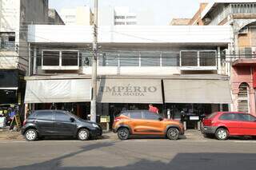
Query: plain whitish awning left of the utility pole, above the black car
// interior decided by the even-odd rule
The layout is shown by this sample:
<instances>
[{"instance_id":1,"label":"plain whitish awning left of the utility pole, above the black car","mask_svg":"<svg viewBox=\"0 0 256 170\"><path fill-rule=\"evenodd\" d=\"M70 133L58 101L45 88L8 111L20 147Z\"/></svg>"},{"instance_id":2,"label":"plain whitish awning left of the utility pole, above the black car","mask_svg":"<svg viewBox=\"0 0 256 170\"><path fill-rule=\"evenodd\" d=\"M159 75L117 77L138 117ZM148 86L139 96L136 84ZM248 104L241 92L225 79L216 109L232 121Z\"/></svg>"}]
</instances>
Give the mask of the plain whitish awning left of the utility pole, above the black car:
<instances>
[{"instance_id":1,"label":"plain whitish awning left of the utility pole, above the black car","mask_svg":"<svg viewBox=\"0 0 256 170\"><path fill-rule=\"evenodd\" d=\"M90 79L26 81L25 103L90 101L90 82Z\"/></svg>"}]
</instances>

